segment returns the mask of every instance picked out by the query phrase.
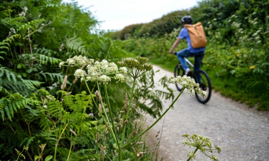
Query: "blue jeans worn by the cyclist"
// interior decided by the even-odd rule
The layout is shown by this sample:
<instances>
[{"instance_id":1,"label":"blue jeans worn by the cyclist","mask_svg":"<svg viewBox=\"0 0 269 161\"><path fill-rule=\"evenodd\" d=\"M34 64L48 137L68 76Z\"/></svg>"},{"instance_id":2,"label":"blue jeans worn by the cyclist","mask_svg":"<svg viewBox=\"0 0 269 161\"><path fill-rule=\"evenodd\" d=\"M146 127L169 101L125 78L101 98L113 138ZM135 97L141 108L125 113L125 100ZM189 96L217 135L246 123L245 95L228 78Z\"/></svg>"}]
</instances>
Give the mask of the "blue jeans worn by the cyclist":
<instances>
[{"instance_id":1,"label":"blue jeans worn by the cyclist","mask_svg":"<svg viewBox=\"0 0 269 161\"><path fill-rule=\"evenodd\" d=\"M200 65L202 63L202 60L203 60L204 56L205 56L205 51L201 51L201 52L198 52L198 53L190 53L187 48L183 49L183 50L180 50L179 52L176 53L176 57L177 57L178 61L181 63L184 71L186 71L186 69L189 68L189 66L187 65L184 57L186 57L186 58L195 57L194 70L195 70L195 72L198 72L200 70Z\"/></svg>"}]
</instances>

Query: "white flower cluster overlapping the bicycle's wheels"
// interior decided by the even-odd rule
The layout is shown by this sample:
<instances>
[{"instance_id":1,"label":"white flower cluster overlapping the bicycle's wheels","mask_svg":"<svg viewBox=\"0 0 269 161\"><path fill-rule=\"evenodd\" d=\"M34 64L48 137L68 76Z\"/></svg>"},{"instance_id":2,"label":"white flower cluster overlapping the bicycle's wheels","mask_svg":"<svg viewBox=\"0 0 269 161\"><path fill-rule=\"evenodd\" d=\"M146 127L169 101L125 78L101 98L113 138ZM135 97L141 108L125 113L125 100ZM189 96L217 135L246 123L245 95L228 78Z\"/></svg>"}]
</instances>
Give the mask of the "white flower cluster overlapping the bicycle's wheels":
<instances>
[{"instance_id":1,"label":"white flower cluster overlapping the bicycle's wheels","mask_svg":"<svg viewBox=\"0 0 269 161\"><path fill-rule=\"evenodd\" d=\"M171 81L171 83L178 83L185 87L190 92L190 96L194 95L196 92L203 95L204 98L206 97L206 92L201 90L199 88L199 84L195 83L195 80L189 76L183 75L175 78L173 75L171 75L168 79Z\"/></svg>"}]
</instances>

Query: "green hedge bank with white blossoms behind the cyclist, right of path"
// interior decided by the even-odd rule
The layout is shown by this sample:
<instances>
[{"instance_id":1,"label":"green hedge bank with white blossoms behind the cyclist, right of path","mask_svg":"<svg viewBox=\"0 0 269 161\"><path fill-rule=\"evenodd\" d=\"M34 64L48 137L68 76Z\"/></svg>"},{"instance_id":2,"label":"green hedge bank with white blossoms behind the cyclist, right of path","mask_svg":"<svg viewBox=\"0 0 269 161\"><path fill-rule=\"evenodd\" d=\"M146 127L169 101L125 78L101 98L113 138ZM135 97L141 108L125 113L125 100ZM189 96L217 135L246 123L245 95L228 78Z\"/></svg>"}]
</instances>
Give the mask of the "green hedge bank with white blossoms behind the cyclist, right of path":
<instances>
[{"instance_id":1,"label":"green hedge bank with white blossoms behind the cyclist, right of path","mask_svg":"<svg viewBox=\"0 0 269 161\"><path fill-rule=\"evenodd\" d=\"M183 28L180 19L184 15L203 24L208 44L202 69L209 73L214 90L258 110L269 110L267 0L202 0L188 10L127 26L113 37L124 40L128 52L174 72L178 60L168 51ZM186 46L182 42L176 50Z\"/></svg>"}]
</instances>

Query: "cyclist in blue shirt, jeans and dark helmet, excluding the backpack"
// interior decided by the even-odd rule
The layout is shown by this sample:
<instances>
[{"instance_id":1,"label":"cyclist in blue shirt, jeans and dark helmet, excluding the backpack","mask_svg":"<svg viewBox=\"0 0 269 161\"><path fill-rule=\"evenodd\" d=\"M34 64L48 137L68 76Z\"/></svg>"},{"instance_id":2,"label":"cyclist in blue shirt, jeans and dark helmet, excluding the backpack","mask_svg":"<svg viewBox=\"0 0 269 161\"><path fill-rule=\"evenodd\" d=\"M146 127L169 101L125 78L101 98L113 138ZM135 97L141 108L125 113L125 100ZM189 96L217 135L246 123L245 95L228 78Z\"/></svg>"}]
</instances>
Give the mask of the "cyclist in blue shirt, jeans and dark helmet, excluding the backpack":
<instances>
[{"instance_id":1,"label":"cyclist in blue shirt, jeans and dark helmet, excluding the backpack","mask_svg":"<svg viewBox=\"0 0 269 161\"><path fill-rule=\"evenodd\" d=\"M190 15L186 15L184 17L181 18L181 23L184 24L192 24L192 18ZM195 62L194 62L194 70L195 72L200 70L200 65L202 63L202 60L205 56L205 50L206 47L200 47L200 48L193 48L191 46L191 41L190 41L190 35L188 30L184 27L183 29L181 29L181 31L179 32L179 35L176 39L176 41L174 42L173 46L171 47L169 53L170 54L174 54L174 49L176 48L176 46L180 43L180 41L182 39L187 40L187 45L188 48L185 48L179 52L176 53L176 57L179 60L179 62L181 63L184 71L185 71L185 75L187 76L191 76L191 70L189 68L189 66L187 65L184 57L188 58L188 57L195 57Z\"/></svg>"}]
</instances>

